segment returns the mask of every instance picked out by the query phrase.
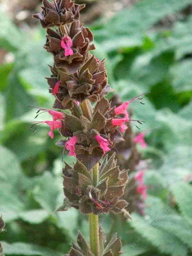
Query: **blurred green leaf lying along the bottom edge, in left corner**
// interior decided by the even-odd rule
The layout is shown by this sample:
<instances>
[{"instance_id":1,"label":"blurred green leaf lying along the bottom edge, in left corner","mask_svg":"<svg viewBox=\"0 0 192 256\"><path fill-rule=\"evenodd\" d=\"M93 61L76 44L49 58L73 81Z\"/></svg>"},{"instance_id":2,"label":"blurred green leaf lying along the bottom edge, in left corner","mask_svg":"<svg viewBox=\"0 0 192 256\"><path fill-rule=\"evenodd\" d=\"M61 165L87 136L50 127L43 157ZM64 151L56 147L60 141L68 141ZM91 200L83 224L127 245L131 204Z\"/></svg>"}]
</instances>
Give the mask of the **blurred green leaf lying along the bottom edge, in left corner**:
<instances>
[{"instance_id":1,"label":"blurred green leaf lying along the bottom edge, in left corner","mask_svg":"<svg viewBox=\"0 0 192 256\"><path fill-rule=\"evenodd\" d=\"M6 243L1 242L6 255L40 255L40 256L61 256L61 252L44 248L28 243Z\"/></svg>"}]
</instances>

